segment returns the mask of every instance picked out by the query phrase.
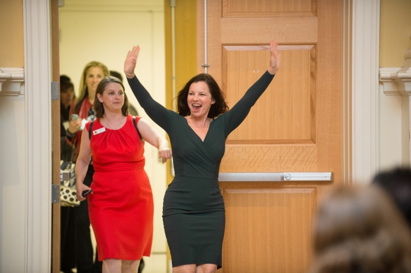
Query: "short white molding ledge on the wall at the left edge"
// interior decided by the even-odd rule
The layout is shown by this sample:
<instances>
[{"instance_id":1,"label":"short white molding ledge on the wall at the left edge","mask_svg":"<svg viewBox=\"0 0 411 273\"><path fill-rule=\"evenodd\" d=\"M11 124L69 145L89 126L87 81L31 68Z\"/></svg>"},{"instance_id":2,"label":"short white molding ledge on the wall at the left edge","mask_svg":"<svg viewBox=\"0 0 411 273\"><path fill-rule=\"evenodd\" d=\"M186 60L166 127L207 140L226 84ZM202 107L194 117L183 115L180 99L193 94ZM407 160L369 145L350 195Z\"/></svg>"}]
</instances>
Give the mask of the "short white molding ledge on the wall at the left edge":
<instances>
[{"instance_id":1,"label":"short white molding ledge on the wall at the left edge","mask_svg":"<svg viewBox=\"0 0 411 273\"><path fill-rule=\"evenodd\" d=\"M0 96L24 94L24 68L0 67Z\"/></svg>"}]
</instances>

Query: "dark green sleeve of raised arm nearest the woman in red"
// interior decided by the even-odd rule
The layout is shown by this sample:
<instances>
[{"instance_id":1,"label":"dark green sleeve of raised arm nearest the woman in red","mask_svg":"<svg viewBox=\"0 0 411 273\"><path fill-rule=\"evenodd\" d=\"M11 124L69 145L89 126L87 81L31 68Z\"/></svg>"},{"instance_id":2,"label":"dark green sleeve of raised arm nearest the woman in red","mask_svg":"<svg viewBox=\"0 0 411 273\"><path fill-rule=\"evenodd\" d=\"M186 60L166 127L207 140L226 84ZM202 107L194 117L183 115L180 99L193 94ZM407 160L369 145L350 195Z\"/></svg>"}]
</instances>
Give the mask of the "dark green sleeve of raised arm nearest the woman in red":
<instances>
[{"instance_id":1,"label":"dark green sleeve of raised arm nearest the woman in red","mask_svg":"<svg viewBox=\"0 0 411 273\"><path fill-rule=\"evenodd\" d=\"M138 103L143 107L147 115L165 131L169 131L169 119L177 113L156 102L137 79L137 76L134 76L133 79L127 78L127 81Z\"/></svg>"}]
</instances>

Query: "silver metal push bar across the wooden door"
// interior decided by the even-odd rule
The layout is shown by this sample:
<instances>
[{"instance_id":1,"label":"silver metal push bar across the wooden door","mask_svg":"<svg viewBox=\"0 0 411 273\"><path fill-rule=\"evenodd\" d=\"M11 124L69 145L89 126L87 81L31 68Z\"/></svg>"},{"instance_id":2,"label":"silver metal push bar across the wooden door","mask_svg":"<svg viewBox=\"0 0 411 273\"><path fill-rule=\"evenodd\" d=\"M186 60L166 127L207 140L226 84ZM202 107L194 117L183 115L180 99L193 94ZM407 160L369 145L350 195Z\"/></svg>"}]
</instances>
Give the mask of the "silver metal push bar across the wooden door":
<instances>
[{"instance_id":1,"label":"silver metal push bar across the wooden door","mask_svg":"<svg viewBox=\"0 0 411 273\"><path fill-rule=\"evenodd\" d=\"M332 172L220 172L220 182L332 181Z\"/></svg>"}]
</instances>

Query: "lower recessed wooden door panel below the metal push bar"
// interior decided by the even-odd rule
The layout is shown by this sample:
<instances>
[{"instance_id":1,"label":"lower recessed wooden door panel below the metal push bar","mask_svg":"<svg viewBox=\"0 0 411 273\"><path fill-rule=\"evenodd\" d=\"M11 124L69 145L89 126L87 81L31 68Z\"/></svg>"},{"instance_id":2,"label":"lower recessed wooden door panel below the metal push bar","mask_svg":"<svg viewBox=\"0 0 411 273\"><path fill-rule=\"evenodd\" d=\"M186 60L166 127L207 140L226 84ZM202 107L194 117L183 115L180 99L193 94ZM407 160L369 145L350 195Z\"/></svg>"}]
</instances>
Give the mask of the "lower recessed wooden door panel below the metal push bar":
<instances>
[{"instance_id":1,"label":"lower recessed wooden door panel below the metal push bar","mask_svg":"<svg viewBox=\"0 0 411 273\"><path fill-rule=\"evenodd\" d=\"M302 272L311 260L314 188L223 189L227 272Z\"/></svg>"}]
</instances>

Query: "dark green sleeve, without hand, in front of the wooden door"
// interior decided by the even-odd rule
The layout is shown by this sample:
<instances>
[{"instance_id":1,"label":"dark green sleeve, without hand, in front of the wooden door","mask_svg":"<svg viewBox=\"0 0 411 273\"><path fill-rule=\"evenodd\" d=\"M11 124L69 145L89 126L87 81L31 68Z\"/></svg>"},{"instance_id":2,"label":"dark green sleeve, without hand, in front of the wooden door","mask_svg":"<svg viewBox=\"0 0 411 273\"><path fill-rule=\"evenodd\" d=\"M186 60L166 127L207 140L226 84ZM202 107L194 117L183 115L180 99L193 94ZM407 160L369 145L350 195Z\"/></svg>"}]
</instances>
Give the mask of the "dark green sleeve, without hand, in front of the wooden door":
<instances>
[{"instance_id":1,"label":"dark green sleeve, without hand, in front of the wooden door","mask_svg":"<svg viewBox=\"0 0 411 273\"><path fill-rule=\"evenodd\" d=\"M241 99L225 115L226 138L244 121L251 107L270 85L274 75L266 71L241 97Z\"/></svg>"}]
</instances>

